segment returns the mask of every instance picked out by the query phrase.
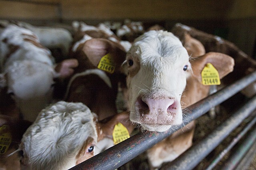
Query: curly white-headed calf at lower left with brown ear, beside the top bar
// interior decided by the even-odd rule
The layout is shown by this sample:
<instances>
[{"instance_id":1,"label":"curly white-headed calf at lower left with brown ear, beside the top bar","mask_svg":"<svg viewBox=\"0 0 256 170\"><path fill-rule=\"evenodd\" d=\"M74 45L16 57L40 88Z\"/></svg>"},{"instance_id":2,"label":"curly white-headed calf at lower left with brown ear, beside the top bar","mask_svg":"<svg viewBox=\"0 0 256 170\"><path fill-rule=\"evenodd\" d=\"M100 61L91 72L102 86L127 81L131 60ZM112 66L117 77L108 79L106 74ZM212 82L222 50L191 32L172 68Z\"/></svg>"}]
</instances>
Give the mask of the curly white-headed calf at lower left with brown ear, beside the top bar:
<instances>
[{"instance_id":1,"label":"curly white-headed calf at lower left with brown ear, beside the top bar","mask_svg":"<svg viewBox=\"0 0 256 170\"><path fill-rule=\"evenodd\" d=\"M57 102L43 109L22 137L23 169L66 170L94 156L97 141L112 137L114 125L122 122L132 131L128 113L104 123L82 103Z\"/></svg>"}]
</instances>

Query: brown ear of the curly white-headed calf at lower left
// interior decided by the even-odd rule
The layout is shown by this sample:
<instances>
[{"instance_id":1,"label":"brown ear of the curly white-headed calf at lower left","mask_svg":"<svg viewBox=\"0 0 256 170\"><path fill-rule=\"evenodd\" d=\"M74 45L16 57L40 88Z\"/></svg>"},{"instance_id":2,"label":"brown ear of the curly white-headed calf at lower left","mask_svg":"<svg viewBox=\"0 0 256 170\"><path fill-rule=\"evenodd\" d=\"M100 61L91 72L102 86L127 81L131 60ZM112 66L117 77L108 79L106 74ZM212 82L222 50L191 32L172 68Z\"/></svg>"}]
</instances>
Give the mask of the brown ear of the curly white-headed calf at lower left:
<instances>
[{"instance_id":1,"label":"brown ear of the curly white-headed calf at lower left","mask_svg":"<svg viewBox=\"0 0 256 170\"><path fill-rule=\"evenodd\" d=\"M110 120L108 120L106 123L104 123L104 121L100 123L102 133L107 136L112 136L114 126L118 122L122 123L127 128L130 134L132 133L135 125L133 125L130 121L129 113L127 111L123 111L122 113L114 115L114 117L111 117Z\"/></svg>"}]
</instances>

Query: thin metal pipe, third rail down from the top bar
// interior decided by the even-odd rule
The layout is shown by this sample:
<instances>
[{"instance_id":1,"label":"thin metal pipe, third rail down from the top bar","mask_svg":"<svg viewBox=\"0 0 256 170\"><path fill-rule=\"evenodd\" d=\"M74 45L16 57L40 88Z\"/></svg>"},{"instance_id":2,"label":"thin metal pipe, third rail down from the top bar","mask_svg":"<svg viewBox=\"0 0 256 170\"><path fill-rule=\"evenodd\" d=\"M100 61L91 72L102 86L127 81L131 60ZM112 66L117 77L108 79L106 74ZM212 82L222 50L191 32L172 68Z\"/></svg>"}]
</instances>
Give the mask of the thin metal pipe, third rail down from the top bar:
<instances>
[{"instance_id":1,"label":"thin metal pipe, third rail down from the top bar","mask_svg":"<svg viewBox=\"0 0 256 170\"><path fill-rule=\"evenodd\" d=\"M244 137L244 135L251 129L251 127L256 123L256 117L246 125L246 127L232 140L232 142L226 147L226 149L222 150L222 152L212 161L212 163L206 168L206 170L212 170L218 162L225 156L225 154L230 151L238 143L238 141Z\"/></svg>"}]
</instances>

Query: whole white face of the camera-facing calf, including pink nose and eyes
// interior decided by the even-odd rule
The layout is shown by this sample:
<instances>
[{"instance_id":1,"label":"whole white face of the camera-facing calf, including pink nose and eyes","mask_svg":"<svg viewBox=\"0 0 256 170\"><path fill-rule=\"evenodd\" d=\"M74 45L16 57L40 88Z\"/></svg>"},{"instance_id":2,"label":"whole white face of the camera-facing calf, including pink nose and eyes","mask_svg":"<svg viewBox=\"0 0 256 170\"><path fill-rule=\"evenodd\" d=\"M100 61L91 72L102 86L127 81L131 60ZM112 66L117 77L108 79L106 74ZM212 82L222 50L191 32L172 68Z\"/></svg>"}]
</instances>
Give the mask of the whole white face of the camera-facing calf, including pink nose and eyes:
<instances>
[{"instance_id":1,"label":"whole white face of the camera-facing calf, including pink nose and eyes","mask_svg":"<svg viewBox=\"0 0 256 170\"><path fill-rule=\"evenodd\" d=\"M130 120L149 131L180 125L180 98L189 67L188 53L172 33L148 31L138 37L124 63Z\"/></svg>"}]
</instances>

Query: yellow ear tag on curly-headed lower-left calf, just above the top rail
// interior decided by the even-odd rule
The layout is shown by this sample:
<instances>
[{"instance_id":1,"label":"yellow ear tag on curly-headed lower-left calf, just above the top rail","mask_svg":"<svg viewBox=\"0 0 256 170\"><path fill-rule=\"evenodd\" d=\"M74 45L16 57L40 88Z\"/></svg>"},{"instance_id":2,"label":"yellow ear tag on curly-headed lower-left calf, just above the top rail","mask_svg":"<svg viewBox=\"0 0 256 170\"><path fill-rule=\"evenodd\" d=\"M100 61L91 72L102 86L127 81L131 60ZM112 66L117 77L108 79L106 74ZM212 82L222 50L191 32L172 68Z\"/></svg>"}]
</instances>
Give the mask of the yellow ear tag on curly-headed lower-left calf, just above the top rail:
<instances>
[{"instance_id":1,"label":"yellow ear tag on curly-headed lower-left calf, just above the top rail","mask_svg":"<svg viewBox=\"0 0 256 170\"><path fill-rule=\"evenodd\" d=\"M115 145L130 137L129 131L120 122L116 123L112 135Z\"/></svg>"}]
</instances>

